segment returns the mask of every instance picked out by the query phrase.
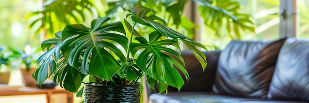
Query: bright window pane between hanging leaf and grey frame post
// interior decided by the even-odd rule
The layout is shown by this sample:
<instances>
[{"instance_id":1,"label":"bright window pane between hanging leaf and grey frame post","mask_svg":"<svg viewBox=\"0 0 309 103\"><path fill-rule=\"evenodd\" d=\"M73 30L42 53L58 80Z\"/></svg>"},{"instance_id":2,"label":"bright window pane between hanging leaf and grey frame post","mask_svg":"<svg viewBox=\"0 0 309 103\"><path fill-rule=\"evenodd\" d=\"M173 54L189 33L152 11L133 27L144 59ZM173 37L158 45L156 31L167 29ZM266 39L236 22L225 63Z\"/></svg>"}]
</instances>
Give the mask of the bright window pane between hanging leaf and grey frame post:
<instances>
[{"instance_id":1,"label":"bright window pane between hanging leaf and grey frame post","mask_svg":"<svg viewBox=\"0 0 309 103\"><path fill-rule=\"evenodd\" d=\"M255 35L248 39L279 38L279 0L237 0L242 12L251 14L256 21Z\"/></svg>"}]
</instances>

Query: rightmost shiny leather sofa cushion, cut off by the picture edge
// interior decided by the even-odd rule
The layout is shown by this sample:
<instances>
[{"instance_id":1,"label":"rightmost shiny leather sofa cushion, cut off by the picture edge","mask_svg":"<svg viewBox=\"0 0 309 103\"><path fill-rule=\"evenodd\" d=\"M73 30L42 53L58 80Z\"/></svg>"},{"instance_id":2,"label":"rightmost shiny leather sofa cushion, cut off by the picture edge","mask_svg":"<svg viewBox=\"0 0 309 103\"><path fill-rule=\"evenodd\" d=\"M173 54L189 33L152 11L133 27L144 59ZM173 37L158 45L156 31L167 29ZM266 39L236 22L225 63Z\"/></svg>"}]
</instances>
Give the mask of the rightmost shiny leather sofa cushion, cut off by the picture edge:
<instances>
[{"instance_id":1,"label":"rightmost shiny leather sofa cushion, cut off by the picture edge","mask_svg":"<svg viewBox=\"0 0 309 103\"><path fill-rule=\"evenodd\" d=\"M309 39L289 38L283 44L268 97L309 101Z\"/></svg>"}]
</instances>

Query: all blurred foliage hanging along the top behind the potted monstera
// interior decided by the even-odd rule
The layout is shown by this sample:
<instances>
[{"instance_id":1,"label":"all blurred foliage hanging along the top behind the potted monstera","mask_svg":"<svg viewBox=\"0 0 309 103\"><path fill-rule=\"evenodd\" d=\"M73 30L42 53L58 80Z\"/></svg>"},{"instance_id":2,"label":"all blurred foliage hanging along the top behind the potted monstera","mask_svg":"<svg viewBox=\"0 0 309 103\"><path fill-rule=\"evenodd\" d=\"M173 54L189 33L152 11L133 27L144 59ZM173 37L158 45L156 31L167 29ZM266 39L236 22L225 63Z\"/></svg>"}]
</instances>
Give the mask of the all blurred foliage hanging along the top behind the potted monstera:
<instances>
[{"instance_id":1,"label":"all blurred foliage hanging along the top behind the potted monstera","mask_svg":"<svg viewBox=\"0 0 309 103\"><path fill-rule=\"evenodd\" d=\"M233 0L192 0L199 7L200 16L204 20L204 25L213 29L216 35L226 35L232 39L242 39L243 31L253 32L255 31L252 17L247 14L239 12L240 5ZM67 3L71 2L71 3ZM131 8L137 5L143 5L148 8L154 9L164 21L170 21L167 26L176 29L177 31L189 36L194 37L194 29L198 29L192 21L183 16L185 5L190 0L114 0L114 1L102 1L102 4L107 4L108 9L98 9L94 6L94 1L91 0L47 0L44 3L42 11L32 13L30 17L36 15L42 15L37 21L34 21L30 27L34 27L35 24L42 22L41 28L47 28L47 31L53 34L53 31L57 28L64 27L63 24L82 23L85 20L84 11L91 11L95 8L97 11L91 11L91 14L100 14L99 12L105 12L108 16L111 16L112 20L121 20L123 17L119 16L119 9ZM56 6L57 5L57 6ZM48 9L47 9L48 8ZM64 11L62 11L64 10ZM188 11L191 12L191 11ZM119 14L117 14L119 13ZM55 15L53 15L55 14ZM117 16L115 16L117 15ZM96 17L94 17L96 18ZM49 25L48 25L49 24ZM62 24L62 25L60 25ZM54 26L58 26L55 28ZM140 26L137 31L143 31L147 26ZM40 31L39 29L37 31ZM141 34L147 35L147 34ZM147 32L150 33L150 32ZM247 35L247 34L246 34ZM49 38L51 36L48 36Z\"/></svg>"}]
</instances>

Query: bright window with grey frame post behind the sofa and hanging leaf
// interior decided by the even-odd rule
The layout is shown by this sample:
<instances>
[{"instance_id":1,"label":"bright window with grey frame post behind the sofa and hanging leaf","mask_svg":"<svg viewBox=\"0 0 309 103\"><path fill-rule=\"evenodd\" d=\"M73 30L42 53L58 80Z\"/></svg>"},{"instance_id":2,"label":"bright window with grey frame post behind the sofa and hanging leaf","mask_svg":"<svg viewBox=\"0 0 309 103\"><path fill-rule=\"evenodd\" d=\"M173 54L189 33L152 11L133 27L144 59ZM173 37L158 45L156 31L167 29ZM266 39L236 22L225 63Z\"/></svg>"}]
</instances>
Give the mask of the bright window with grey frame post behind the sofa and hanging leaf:
<instances>
[{"instance_id":1,"label":"bright window with grey frame post behind the sofa and hanging leaf","mask_svg":"<svg viewBox=\"0 0 309 103\"><path fill-rule=\"evenodd\" d=\"M268 40L282 37L309 37L309 0L235 0L256 22L255 34L242 34L241 40ZM200 22L202 23L202 21ZM209 50L223 50L232 40L228 35L200 25L200 41ZM221 31L220 31L221 32Z\"/></svg>"}]
</instances>

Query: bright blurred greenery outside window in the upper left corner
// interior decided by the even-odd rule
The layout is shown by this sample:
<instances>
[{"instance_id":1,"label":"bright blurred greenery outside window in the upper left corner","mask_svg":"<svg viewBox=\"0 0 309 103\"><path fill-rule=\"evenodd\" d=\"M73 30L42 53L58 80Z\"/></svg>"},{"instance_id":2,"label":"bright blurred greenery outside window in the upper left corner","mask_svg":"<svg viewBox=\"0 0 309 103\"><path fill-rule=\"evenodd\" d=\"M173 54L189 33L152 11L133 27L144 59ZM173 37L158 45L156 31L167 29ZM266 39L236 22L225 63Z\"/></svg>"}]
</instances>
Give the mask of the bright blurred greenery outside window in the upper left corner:
<instances>
[{"instance_id":1,"label":"bright blurred greenery outside window in the upper left corner","mask_svg":"<svg viewBox=\"0 0 309 103\"><path fill-rule=\"evenodd\" d=\"M28 30L25 16L38 11L39 0L0 0L0 45L24 49L26 45L40 48L40 35Z\"/></svg>"}]
</instances>

